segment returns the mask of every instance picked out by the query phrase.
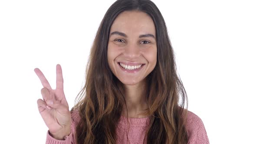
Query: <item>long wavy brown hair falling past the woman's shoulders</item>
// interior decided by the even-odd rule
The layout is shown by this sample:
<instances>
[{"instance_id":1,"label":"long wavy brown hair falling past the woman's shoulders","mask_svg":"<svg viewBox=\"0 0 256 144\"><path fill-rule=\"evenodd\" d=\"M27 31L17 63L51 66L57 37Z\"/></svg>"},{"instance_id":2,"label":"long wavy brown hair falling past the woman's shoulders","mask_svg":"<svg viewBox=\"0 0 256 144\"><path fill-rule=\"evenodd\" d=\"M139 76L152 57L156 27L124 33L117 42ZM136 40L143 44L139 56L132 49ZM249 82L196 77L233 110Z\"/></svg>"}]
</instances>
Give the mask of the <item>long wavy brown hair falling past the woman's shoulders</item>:
<instances>
[{"instance_id":1,"label":"long wavy brown hair falling past the woman's shoulders","mask_svg":"<svg viewBox=\"0 0 256 144\"><path fill-rule=\"evenodd\" d=\"M145 78L150 125L145 136L149 144L187 144L184 108L187 94L177 76L173 48L164 18L150 0L117 0L105 13L98 28L86 68L85 85L76 97L80 115L76 126L77 144L115 144L116 124L126 106L124 87L111 72L107 61L110 28L119 13L138 10L154 21L157 63ZM144 139L144 142L145 142Z\"/></svg>"}]
</instances>

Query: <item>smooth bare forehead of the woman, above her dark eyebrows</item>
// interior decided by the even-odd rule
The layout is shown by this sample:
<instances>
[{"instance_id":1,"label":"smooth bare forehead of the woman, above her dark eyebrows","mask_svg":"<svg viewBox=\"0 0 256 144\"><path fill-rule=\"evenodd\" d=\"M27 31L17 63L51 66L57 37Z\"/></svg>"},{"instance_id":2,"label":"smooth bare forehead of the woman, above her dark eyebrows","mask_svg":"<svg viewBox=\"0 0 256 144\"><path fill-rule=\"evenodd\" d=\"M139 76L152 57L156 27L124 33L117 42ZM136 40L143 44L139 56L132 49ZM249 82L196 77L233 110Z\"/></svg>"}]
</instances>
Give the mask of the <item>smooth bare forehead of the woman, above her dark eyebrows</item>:
<instances>
[{"instance_id":1,"label":"smooth bare forehead of the woman, above her dark eyebrows","mask_svg":"<svg viewBox=\"0 0 256 144\"><path fill-rule=\"evenodd\" d=\"M154 22L151 17L140 11L125 11L114 20L110 31L123 33L152 33L155 35Z\"/></svg>"}]
</instances>

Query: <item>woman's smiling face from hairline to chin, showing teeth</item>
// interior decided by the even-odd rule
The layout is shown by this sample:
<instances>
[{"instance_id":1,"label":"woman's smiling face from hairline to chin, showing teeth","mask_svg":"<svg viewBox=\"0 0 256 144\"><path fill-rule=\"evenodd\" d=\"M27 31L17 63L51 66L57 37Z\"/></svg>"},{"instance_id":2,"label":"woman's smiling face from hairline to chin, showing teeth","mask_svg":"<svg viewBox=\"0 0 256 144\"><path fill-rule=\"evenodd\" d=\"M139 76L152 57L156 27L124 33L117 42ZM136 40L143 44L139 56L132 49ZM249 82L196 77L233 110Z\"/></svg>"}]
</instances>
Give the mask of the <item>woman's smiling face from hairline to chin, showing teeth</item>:
<instances>
[{"instance_id":1,"label":"woman's smiling face from hairline to chin, showing teeth","mask_svg":"<svg viewBox=\"0 0 256 144\"><path fill-rule=\"evenodd\" d=\"M138 84L152 72L157 62L155 37L154 22L144 12L125 11L115 19L108 39L108 65L123 84Z\"/></svg>"}]
</instances>

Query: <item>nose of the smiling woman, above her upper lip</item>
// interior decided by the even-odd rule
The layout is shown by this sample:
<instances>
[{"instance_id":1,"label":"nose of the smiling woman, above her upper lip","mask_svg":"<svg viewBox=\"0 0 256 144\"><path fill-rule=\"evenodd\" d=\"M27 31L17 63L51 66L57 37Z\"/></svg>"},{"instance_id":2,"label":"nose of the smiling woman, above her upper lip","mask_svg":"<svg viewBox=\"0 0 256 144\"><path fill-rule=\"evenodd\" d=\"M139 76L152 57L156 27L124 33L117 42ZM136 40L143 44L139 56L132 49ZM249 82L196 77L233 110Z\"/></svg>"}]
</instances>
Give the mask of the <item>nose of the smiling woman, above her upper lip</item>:
<instances>
[{"instance_id":1,"label":"nose of the smiling woman, above her upper lip","mask_svg":"<svg viewBox=\"0 0 256 144\"><path fill-rule=\"evenodd\" d=\"M140 56L140 48L136 44L125 46L124 56L128 59L136 59Z\"/></svg>"}]
</instances>

